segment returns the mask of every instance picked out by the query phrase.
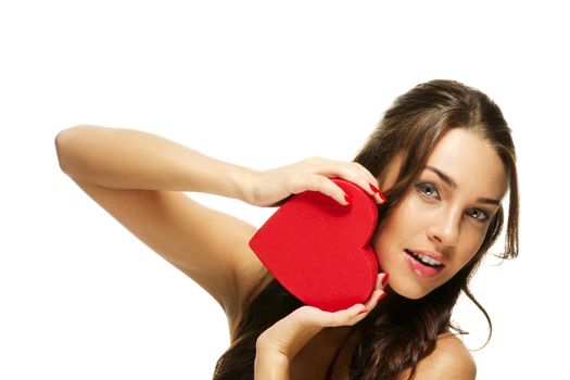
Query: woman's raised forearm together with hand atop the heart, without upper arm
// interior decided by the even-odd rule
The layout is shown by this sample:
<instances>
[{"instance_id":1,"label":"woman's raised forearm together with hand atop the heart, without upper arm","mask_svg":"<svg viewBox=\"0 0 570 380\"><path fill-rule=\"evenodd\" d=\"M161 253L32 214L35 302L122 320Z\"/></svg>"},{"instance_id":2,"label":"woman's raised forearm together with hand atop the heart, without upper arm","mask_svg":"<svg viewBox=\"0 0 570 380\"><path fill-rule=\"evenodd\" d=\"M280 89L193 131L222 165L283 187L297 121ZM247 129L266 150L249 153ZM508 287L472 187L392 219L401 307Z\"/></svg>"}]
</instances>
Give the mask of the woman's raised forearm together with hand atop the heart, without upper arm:
<instances>
[{"instance_id":1,"label":"woman's raised forearm together with hand atop the heart, without upper arm","mask_svg":"<svg viewBox=\"0 0 570 380\"><path fill-rule=\"evenodd\" d=\"M77 126L55 138L60 167L74 179L111 189L195 191L271 205L290 194L320 191L346 204L327 180L339 176L382 202L378 180L362 165L325 159L259 173L201 154L163 137L135 129Z\"/></svg>"}]
</instances>

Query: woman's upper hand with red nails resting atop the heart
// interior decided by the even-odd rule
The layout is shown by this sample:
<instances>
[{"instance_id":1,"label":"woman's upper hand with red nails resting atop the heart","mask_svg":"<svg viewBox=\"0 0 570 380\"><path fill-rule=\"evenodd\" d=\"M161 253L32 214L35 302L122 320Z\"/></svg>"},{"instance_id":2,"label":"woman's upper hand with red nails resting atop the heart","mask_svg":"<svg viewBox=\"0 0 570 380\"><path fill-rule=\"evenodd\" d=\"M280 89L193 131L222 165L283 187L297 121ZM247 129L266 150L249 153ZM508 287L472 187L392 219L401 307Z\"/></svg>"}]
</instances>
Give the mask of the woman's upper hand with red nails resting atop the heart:
<instances>
[{"instance_id":1,"label":"woman's upper hand with red nails resting atop the heart","mask_svg":"<svg viewBox=\"0 0 570 380\"><path fill-rule=\"evenodd\" d=\"M291 194L313 190L331 197L342 205L349 204L346 194L329 179L331 177L359 186L375 197L378 203L384 201L379 194L378 180L363 165L313 157L270 170L255 172L248 182L245 202L256 206L271 206Z\"/></svg>"}]
</instances>

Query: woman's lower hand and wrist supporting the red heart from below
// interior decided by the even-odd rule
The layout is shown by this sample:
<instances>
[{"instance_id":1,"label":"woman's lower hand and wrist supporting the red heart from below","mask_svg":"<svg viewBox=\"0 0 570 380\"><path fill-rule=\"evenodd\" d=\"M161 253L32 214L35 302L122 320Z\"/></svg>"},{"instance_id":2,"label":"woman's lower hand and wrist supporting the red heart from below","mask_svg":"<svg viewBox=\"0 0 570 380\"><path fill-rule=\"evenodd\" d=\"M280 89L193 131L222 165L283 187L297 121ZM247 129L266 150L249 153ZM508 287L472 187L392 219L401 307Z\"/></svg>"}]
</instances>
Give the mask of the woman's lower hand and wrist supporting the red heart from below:
<instances>
[{"instance_id":1,"label":"woman's lower hand and wrist supporting the red heart from below","mask_svg":"<svg viewBox=\"0 0 570 380\"><path fill-rule=\"evenodd\" d=\"M388 274L378 275L376 289L366 304L335 313L302 306L265 330L256 343L255 378L288 379L289 364L299 351L326 327L353 326L363 320L387 294Z\"/></svg>"}]
</instances>

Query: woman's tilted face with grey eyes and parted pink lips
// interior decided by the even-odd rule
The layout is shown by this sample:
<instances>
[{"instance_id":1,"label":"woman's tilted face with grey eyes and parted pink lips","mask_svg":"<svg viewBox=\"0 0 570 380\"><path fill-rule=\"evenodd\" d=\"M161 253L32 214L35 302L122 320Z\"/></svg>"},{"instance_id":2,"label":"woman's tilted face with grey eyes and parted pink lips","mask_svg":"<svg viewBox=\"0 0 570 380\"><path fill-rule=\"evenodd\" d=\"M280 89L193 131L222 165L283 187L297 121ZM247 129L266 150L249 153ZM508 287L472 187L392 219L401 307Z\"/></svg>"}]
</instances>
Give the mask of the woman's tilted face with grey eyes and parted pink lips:
<instances>
[{"instance_id":1,"label":"woman's tilted face with grey eyes and parted pink lips","mask_svg":"<svg viewBox=\"0 0 570 380\"><path fill-rule=\"evenodd\" d=\"M396 165L382 189L392 183ZM445 132L371 244L390 287L420 299L449 280L477 253L507 190L495 150L464 128Z\"/></svg>"}]
</instances>

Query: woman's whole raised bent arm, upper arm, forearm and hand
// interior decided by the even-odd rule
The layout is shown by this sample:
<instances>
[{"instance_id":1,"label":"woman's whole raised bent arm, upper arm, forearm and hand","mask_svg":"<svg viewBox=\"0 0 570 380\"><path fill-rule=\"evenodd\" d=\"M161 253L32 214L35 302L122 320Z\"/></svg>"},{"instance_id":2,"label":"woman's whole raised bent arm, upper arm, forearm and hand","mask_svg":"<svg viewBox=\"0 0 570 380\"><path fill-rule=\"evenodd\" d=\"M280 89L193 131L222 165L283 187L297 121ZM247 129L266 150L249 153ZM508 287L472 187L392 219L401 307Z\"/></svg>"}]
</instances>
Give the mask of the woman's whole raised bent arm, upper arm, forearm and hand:
<instances>
[{"instance_id":1,"label":"woman's whole raised bent arm, upper arm, forearm and hand","mask_svg":"<svg viewBox=\"0 0 570 380\"><path fill-rule=\"evenodd\" d=\"M89 197L153 251L204 288L235 321L264 268L249 248L256 228L194 202L198 191L271 205L316 190L345 204L327 177L373 194L376 178L355 163L309 159L257 172L132 129L78 126L55 138L60 166ZM378 195L377 195L378 198ZM379 200L379 202L381 202Z\"/></svg>"}]
</instances>

